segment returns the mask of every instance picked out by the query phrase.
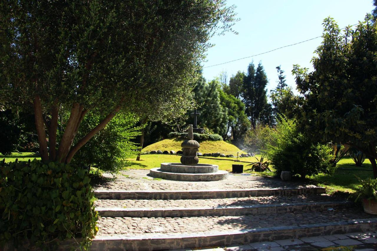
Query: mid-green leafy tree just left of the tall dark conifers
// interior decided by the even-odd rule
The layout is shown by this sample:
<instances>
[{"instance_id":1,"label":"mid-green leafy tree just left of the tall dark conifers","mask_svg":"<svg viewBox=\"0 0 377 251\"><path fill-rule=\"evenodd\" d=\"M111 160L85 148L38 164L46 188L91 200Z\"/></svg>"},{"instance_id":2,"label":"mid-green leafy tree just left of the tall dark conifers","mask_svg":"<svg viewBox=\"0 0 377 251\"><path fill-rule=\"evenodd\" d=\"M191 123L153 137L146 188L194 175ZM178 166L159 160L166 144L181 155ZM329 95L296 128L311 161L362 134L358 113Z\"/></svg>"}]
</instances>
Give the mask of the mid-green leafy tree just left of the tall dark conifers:
<instances>
[{"instance_id":1,"label":"mid-green leafy tree just left of the tall dark conifers","mask_svg":"<svg viewBox=\"0 0 377 251\"><path fill-rule=\"evenodd\" d=\"M243 135L250 127L250 121L245 114L245 105L231 94L219 90L221 106L227 108L227 130L222 136L224 140L233 138L233 143L240 143Z\"/></svg>"}]
</instances>

